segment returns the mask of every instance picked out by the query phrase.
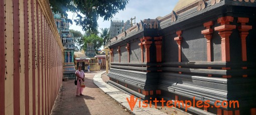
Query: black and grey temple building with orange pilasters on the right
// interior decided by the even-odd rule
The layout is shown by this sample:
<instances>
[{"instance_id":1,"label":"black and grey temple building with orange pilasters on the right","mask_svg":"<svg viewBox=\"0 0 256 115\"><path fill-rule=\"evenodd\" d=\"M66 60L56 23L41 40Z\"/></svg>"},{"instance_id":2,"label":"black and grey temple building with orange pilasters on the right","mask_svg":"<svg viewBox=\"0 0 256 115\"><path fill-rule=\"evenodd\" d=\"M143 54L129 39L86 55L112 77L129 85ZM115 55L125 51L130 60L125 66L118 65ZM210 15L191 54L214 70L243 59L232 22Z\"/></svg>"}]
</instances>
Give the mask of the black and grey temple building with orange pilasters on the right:
<instances>
[{"instance_id":1,"label":"black and grey temple building with orange pilasters on the right","mask_svg":"<svg viewBox=\"0 0 256 115\"><path fill-rule=\"evenodd\" d=\"M109 84L193 114L256 114L255 0L179 0L145 18L105 46Z\"/></svg>"}]
</instances>

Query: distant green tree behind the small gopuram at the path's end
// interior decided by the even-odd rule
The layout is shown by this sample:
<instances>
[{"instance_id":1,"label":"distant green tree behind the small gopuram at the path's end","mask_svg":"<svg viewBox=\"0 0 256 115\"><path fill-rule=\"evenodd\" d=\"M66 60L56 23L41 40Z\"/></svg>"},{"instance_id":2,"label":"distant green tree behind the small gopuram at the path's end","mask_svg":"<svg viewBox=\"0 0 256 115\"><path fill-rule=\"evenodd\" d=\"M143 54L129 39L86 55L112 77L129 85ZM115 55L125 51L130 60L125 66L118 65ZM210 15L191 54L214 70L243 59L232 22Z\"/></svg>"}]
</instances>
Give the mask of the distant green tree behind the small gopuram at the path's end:
<instances>
[{"instance_id":1,"label":"distant green tree behind the small gopuram at the path's end","mask_svg":"<svg viewBox=\"0 0 256 115\"><path fill-rule=\"evenodd\" d=\"M103 38L100 38L96 34L84 35L83 49L86 51L87 43L93 43L95 52L98 54L98 49L102 46Z\"/></svg>"}]
</instances>

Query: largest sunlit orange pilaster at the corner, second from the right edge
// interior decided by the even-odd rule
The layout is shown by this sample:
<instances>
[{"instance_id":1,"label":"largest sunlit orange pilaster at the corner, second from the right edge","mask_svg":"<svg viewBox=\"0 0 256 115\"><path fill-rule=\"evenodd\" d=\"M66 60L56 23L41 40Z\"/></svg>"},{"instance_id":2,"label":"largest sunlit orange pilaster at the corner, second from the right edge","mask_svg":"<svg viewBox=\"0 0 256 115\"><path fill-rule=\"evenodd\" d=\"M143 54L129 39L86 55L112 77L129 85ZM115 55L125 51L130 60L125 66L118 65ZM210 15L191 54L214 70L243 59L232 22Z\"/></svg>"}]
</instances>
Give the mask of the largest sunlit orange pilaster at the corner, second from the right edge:
<instances>
[{"instance_id":1,"label":"largest sunlit orange pilaster at the corner, second from the right edge","mask_svg":"<svg viewBox=\"0 0 256 115\"><path fill-rule=\"evenodd\" d=\"M223 62L230 61L229 36L232 33L232 29L235 28L235 25L231 25L229 22L233 22L233 19L232 16L219 17L218 23L221 25L214 27L215 30L219 31L221 37L221 54Z\"/></svg>"}]
</instances>

